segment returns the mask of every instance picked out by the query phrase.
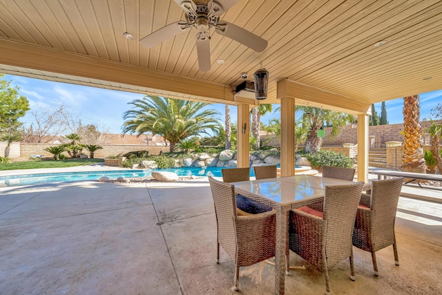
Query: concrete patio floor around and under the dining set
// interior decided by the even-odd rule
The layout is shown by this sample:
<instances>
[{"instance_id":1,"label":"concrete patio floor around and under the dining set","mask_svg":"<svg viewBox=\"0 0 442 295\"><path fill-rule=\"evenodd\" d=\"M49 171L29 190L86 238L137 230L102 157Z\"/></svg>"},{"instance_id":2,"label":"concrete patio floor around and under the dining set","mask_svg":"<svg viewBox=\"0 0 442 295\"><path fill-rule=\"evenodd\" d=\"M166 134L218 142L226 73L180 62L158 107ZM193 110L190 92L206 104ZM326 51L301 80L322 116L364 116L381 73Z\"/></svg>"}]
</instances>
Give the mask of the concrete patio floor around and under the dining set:
<instances>
[{"instance_id":1,"label":"concrete patio floor around and under the dining set","mask_svg":"<svg viewBox=\"0 0 442 295\"><path fill-rule=\"evenodd\" d=\"M332 294L442 294L442 204L401 198L392 247L354 248L329 272ZM0 294L273 294L267 263L240 270L221 251L206 178L175 183L65 182L0 188ZM291 254L291 265L305 262ZM286 276L286 294L325 294L313 267Z\"/></svg>"}]
</instances>

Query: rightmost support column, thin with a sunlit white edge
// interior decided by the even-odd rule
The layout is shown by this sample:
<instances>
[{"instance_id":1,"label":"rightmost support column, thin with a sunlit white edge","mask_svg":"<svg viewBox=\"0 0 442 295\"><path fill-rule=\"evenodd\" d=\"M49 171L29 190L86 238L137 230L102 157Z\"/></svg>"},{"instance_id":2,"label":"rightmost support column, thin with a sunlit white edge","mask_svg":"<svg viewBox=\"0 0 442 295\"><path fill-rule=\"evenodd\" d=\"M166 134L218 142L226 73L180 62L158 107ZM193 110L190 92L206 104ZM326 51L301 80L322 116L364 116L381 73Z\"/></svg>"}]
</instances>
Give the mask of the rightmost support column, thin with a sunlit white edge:
<instances>
[{"instance_id":1,"label":"rightmost support column, thin with a sunlit white edge","mask_svg":"<svg viewBox=\"0 0 442 295\"><path fill-rule=\"evenodd\" d=\"M364 182L368 182L368 119L368 115L358 115L358 181Z\"/></svg>"}]
</instances>

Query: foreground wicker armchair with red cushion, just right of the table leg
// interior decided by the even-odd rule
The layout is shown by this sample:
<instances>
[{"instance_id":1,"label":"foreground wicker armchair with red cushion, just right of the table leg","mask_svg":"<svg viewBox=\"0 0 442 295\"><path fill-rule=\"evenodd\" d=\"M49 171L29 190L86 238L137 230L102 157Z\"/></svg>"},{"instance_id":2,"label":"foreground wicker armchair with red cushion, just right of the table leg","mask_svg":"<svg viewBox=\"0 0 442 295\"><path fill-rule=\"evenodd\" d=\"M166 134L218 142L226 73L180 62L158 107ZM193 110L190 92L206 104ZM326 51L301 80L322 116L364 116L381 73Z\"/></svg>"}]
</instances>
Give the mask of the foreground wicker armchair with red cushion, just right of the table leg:
<instances>
[{"instance_id":1,"label":"foreground wicker armchair with red cushion, just right of the table leg","mask_svg":"<svg viewBox=\"0 0 442 295\"><path fill-rule=\"evenodd\" d=\"M327 294L328 269L345 258L354 280L352 231L363 183L327 186L322 200L289 211L289 249L324 272Z\"/></svg>"}]
</instances>

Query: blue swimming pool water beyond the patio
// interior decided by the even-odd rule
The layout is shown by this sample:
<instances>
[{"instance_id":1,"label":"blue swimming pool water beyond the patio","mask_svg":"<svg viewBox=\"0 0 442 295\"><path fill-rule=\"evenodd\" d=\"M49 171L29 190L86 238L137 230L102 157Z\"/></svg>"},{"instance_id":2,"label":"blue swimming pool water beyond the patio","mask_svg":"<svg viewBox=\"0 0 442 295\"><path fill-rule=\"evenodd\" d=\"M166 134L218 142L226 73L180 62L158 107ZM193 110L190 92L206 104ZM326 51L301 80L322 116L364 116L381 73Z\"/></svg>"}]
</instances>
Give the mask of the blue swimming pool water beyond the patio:
<instances>
[{"instance_id":1,"label":"blue swimming pool water beyond the patio","mask_svg":"<svg viewBox=\"0 0 442 295\"><path fill-rule=\"evenodd\" d=\"M171 169L137 169L137 170L114 170L114 171L86 171L86 172L69 172L69 173L40 173L40 174L24 174L0 176L0 187L9 187L13 185L39 184L49 182L66 182L78 180L98 180L102 176L108 178L143 178L151 176L153 171L170 171L177 173L178 176L214 176L221 177L220 167L202 168L171 168ZM251 169L251 176L254 176Z\"/></svg>"}]
</instances>

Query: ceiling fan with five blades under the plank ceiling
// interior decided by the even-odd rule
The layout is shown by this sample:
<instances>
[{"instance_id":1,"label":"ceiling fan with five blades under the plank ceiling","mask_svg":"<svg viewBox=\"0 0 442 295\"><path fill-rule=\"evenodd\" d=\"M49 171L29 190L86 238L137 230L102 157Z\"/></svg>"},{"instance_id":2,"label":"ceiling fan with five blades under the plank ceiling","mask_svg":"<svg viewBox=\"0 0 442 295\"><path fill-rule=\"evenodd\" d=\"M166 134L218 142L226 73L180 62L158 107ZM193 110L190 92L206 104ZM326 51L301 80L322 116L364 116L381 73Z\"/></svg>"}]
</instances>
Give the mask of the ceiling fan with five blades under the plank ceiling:
<instances>
[{"instance_id":1,"label":"ceiling fan with five blades under the plank ceiling","mask_svg":"<svg viewBox=\"0 0 442 295\"><path fill-rule=\"evenodd\" d=\"M162 41L170 39L189 28L196 28L196 49L198 53L198 64L200 70L210 70L210 32L214 28L215 32L260 53L267 47L267 41L257 35L244 30L233 23L220 21L220 15L226 12L239 0L211 0L208 3L203 0L174 0L186 13L186 21L171 23L160 30L156 30L151 35L147 35L140 40L140 44L146 48L160 44Z\"/></svg>"}]
</instances>

